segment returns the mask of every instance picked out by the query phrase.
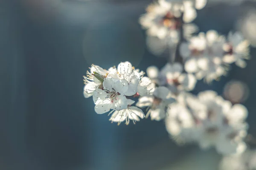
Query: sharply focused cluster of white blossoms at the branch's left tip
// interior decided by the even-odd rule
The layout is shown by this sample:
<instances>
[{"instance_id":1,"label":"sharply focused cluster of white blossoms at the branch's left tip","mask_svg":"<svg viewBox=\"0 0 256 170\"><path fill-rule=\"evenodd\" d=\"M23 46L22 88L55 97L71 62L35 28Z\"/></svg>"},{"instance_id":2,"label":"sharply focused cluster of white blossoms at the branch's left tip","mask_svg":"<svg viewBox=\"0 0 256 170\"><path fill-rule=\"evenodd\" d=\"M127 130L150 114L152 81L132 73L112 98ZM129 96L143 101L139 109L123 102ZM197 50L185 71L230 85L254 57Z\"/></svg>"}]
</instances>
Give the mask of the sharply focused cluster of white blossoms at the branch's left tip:
<instances>
[{"instance_id":1,"label":"sharply focused cluster of white blossoms at the branch's left tip","mask_svg":"<svg viewBox=\"0 0 256 170\"><path fill-rule=\"evenodd\" d=\"M161 99L171 99L167 88L155 88L151 79L143 77L143 74L143 71L135 70L130 62L121 62L117 68L111 67L108 70L92 65L90 72L87 71L87 76L84 76L84 97L93 96L96 113L110 111L111 122L118 122L119 125L125 121L128 125L132 120L135 123L145 115L140 108L131 106L135 101L129 98L154 96L151 101L152 109L160 108ZM137 106L143 107L143 104L139 102Z\"/></svg>"}]
</instances>

